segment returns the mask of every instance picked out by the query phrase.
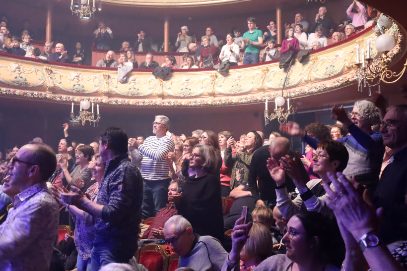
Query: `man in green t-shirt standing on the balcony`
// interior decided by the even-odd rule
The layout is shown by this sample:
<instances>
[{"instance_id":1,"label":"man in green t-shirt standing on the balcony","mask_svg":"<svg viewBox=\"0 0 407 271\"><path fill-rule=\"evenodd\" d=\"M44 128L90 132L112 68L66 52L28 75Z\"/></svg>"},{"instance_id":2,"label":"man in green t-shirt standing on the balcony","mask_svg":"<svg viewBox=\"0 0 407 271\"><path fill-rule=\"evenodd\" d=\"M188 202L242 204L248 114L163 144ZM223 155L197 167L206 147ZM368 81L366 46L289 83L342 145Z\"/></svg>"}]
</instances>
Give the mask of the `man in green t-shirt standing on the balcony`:
<instances>
[{"instance_id":1,"label":"man in green t-shirt standing on the balcony","mask_svg":"<svg viewBox=\"0 0 407 271\"><path fill-rule=\"evenodd\" d=\"M247 26L249 31L243 34L242 49L245 49L245 57L243 58L243 65L251 63L259 63L260 61L260 48L263 46L263 33L256 29L256 18L249 17L247 19Z\"/></svg>"}]
</instances>

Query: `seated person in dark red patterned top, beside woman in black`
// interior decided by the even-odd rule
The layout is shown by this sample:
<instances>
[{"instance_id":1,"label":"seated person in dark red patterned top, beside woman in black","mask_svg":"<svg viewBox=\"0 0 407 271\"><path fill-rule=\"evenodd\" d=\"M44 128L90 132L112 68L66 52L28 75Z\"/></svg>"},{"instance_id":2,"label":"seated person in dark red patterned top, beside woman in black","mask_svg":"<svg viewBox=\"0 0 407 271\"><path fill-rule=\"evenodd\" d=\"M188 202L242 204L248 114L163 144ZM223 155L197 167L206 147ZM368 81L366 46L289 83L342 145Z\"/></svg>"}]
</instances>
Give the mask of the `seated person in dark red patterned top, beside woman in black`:
<instances>
[{"instance_id":1,"label":"seated person in dark red patterned top, beside woman in black","mask_svg":"<svg viewBox=\"0 0 407 271\"><path fill-rule=\"evenodd\" d=\"M141 237L141 239L165 239L164 236L164 224L170 217L178 215L178 210L172 201L174 196L180 195L182 188L184 186L184 181L180 179L172 180L170 186L168 187L168 204L166 207L162 208L157 215L155 215L154 220L146 229Z\"/></svg>"}]
</instances>

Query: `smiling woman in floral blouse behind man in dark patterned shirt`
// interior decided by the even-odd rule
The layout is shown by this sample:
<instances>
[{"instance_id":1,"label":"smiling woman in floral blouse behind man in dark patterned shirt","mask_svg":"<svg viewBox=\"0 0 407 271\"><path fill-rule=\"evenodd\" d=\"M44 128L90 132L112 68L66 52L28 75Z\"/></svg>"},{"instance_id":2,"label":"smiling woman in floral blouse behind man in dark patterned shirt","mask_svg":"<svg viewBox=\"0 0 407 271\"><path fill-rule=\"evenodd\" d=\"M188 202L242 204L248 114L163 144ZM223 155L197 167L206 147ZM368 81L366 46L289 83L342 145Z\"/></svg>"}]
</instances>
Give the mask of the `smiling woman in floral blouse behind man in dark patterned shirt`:
<instances>
[{"instance_id":1,"label":"smiling woman in floral blouse behind man in dark patterned shirt","mask_svg":"<svg viewBox=\"0 0 407 271\"><path fill-rule=\"evenodd\" d=\"M100 154L93 156L92 161L89 163L89 170L92 172L92 177L96 180L96 182L86 190L86 194L90 196L91 201L96 201L97 199L99 185L105 173L105 165L106 163L103 162ZM69 193L66 188L54 186L52 190L55 199L67 207L69 214L75 219L73 239L75 241L76 250L78 251L78 258L76 261L77 270L86 270L86 267L88 267L89 270L90 252L93 248L93 241L95 238L95 218L85 211L78 209L76 206L64 202L61 198L61 193Z\"/></svg>"}]
</instances>

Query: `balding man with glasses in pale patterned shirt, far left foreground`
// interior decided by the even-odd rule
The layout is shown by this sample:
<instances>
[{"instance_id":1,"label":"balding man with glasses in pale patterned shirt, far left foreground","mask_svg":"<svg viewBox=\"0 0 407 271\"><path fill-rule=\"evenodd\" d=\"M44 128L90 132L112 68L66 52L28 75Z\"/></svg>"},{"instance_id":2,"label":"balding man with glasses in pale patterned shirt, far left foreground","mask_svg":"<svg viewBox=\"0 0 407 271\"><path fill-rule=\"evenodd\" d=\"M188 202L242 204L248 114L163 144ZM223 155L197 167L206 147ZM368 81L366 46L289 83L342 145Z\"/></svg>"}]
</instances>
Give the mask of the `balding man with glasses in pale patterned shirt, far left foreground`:
<instances>
[{"instance_id":1,"label":"balding man with glasses in pale patterned shirt, far left foreground","mask_svg":"<svg viewBox=\"0 0 407 271\"><path fill-rule=\"evenodd\" d=\"M7 166L9 182L3 189L13 186L19 192L0 226L0 270L49 270L59 208L46 181L57 166L55 153L48 145L30 143Z\"/></svg>"}]
</instances>

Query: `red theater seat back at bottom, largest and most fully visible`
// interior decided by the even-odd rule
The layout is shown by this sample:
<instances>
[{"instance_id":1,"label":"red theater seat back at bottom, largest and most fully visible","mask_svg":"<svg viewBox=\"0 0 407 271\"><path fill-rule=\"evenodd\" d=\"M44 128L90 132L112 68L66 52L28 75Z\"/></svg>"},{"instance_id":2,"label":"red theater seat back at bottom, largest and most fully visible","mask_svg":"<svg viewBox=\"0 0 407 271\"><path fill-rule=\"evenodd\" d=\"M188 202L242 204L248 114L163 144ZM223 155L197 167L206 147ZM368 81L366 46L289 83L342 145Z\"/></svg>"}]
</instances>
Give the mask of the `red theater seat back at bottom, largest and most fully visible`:
<instances>
[{"instance_id":1,"label":"red theater seat back at bottom, largest and most fully visible","mask_svg":"<svg viewBox=\"0 0 407 271\"><path fill-rule=\"evenodd\" d=\"M148 271L167 271L168 255L162 245L147 245L140 249L138 263Z\"/></svg>"}]
</instances>

